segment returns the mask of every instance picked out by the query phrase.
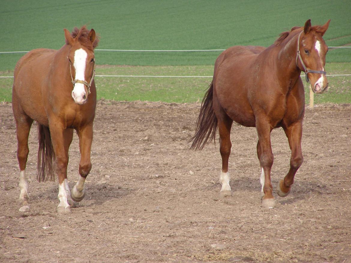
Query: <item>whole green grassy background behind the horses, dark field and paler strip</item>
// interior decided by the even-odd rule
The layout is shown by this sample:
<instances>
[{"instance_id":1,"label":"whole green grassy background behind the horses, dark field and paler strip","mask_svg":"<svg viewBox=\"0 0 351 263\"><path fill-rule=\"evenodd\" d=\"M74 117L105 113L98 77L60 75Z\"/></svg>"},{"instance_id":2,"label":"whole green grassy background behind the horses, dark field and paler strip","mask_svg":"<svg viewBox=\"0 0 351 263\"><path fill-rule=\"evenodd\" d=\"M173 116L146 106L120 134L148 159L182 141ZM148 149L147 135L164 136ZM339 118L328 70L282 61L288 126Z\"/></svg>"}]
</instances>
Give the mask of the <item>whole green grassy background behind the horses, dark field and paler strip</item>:
<instances>
[{"instance_id":1,"label":"whole green grassy background behind the horses, dark field and paler strip","mask_svg":"<svg viewBox=\"0 0 351 263\"><path fill-rule=\"evenodd\" d=\"M234 45L269 46L283 31L331 19L324 39L329 46L351 45L349 1L11 1L1 0L0 52L64 45L63 28L87 25L100 35L98 49L225 49ZM96 51L101 75L208 75L220 51ZM23 53L0 53L0 75L11 76ZM350 74L351 48L331 49L328 73ZM335 63L345 62L345 63ZM348 63L347 63L348 62ZM103 66L111 65L111 66ZM113 65L128 65L118 67ZM139 66L139 67L135 67ZM330 70L330 69L332 70ZM344 73L341 73L344 72ZM326 95L316 103L350 102L350 76L330 77ZM109 100L193 102L201 100L210 78L97 77L98 96ZM12 79L0 79L0 100L11 101ZM341 92L333 92L342 90ZM347 95L347 96L346 96ZM321 101L319 101L319 98ZM335 100L335 101L334 101Z\"/></svg>"}]
</instances>

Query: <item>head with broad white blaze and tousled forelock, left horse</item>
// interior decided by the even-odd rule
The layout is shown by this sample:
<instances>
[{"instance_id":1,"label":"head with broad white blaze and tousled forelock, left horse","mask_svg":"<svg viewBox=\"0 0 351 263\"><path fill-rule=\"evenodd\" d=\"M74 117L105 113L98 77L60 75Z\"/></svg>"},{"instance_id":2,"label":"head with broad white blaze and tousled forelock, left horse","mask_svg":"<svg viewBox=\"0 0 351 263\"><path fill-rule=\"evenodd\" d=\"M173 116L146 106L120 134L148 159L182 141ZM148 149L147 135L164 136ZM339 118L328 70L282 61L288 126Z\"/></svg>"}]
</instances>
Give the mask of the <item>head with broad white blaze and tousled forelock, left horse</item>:
<instances>
[{"instance_id":1,"label":"head with broad white blaze and tousled forelock, left horse","mask_svg":"<svg viewBox=\"0 0 351 263\"><path fill-rule=\"evenodd\" d=\"M67 58L73 85L72 97L75 103L84 104L95 76L95 31L91 29L89 32L85 27L80 30L76 28L72 34L67 29L64 31L66 43L70 46Z\"/></svg>"}]
</instances>

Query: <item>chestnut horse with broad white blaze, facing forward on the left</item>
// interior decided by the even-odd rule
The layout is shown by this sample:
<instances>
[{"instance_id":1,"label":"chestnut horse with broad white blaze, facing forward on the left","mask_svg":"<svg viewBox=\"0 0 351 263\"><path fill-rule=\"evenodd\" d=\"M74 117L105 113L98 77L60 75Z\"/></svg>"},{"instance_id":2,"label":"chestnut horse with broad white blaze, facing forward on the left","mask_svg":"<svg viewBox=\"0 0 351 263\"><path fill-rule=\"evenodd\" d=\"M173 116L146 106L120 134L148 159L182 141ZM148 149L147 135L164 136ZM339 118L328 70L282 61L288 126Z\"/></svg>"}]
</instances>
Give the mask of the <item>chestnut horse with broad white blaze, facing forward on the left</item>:
<instances>
[{"instance_id":1,"label":"chestnut horse with broad white blaze, facing forward on the left","mask_svg":"<svg viewBox=\"0 0 351 263\"><path fill-rule=\"evenodd\" d=\"M16 121L17 158L20 167L20 211L29 210L26 162L28 135L33 121L38 123L38 180L59 178L58 213L69 213L68 201L84 198L84 182L90 172L90 150L96 107L94 29L64 29L66 44L59 50L39 48L24 55L16 64L12 108ZM74 79L73 79L74 76ZM80 178L69 191L68 149L73 129L79 137ZM54 160L54 165L53 165Z\"/></svg>"}]
</instances>

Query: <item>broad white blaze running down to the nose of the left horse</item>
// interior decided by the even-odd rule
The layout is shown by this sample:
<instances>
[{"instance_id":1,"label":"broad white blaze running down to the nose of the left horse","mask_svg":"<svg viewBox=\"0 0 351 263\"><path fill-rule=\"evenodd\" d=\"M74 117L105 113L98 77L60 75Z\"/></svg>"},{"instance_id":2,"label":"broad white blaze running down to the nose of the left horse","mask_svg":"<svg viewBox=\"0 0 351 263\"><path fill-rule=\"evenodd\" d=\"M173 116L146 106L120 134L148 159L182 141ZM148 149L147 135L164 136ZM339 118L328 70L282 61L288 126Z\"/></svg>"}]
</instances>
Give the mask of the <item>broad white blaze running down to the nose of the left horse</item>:
<instances>
[{"instance_id":1,"label":"broad white blaze running down to the nose of the left horse","mask_svg":"<svg viewBox=\"0 0 351 263\"><path fill-rule=\"evenodd\" d=\"M75 77L74 79L85 81L85 65L88 54L82 48L75 50L74 52L74 69L75 69ZM75 102L83 102L82 97L85 95L85 86L82 83L75 83L73 92L75 97L73 99Z\"/></svg>"}]
</instances>

